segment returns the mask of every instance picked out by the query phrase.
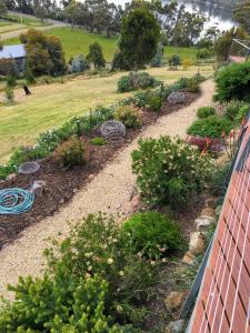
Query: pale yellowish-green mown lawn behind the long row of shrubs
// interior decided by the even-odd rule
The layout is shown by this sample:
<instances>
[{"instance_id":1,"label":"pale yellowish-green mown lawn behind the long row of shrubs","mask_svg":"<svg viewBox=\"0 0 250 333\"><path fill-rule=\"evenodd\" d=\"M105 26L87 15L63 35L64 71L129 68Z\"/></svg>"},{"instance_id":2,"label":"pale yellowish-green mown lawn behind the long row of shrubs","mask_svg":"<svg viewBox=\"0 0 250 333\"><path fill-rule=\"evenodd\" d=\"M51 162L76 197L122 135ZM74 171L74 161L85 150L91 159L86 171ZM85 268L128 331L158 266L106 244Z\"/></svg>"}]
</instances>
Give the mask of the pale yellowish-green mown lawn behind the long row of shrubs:
<instances>
[{"instance_id":1,"label":"pale yellowish-green mown lawn behind the long row of shrubs","mask_svg":"<svg viewBox=\"0 0 250 333\"><path fill-rule=\"evenodd\" d=\"M170 71L168 68L149 69L149 72L162 81L173 81L181 77L191 77L197 67L188 71ZM200 68L208 75L212 67ZM32 144L38 133L59 127L73 115L88 113L98 104L109 104L128 94L117 92L117 82L121 75L108 78L79 77L61 83L31 87L32 94L26 97L22 89L14 91L16 103L0 105L0 161L4 162L13 149L21 144ZM3 93L0 92L0 102Z\"/></svg>"}]
</instances>

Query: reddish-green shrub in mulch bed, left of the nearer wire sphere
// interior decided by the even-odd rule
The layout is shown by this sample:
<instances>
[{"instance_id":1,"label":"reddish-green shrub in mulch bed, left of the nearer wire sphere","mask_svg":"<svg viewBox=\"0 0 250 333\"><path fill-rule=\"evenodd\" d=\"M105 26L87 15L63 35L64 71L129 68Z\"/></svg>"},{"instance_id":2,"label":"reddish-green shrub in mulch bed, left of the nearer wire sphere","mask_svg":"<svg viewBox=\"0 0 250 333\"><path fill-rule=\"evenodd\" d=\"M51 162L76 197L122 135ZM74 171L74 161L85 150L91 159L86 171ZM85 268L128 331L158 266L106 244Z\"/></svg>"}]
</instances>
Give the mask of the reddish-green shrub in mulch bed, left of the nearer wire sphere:
<instances>
[{"instance_id":1,"label":"reddish-green shrub in mulch bed, left of the nearer wire sphere","mask_svg":"<svg viewBox=\"0 0 250 333\"><path fill-rule=\"evenodd\" d=\"M86 163L86 145L76 135L63 142L56 151L62 168L70 169Z\"/></svg>"}]
</instances>

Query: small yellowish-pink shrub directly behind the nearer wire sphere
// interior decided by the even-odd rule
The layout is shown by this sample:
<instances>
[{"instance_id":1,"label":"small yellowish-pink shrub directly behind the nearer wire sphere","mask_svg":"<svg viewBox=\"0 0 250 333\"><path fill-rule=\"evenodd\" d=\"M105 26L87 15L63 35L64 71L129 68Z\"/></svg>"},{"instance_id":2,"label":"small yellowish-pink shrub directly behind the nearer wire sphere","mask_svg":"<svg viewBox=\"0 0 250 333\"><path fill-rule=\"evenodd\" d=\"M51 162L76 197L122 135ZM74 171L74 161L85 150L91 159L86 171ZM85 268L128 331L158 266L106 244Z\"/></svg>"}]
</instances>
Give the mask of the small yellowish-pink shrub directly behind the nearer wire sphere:
<instances>
[{"instance_id":1,"label":"small yellowish-pink shrub directly behind the nearer wire sphere","mask_svg":"<svg viewBox=\"0 0 250 333\"><path fill-rule=\"evenodd\" d=\"M114 119L121 121L127 128L141 125L140 111L132 105L119 107L114 113Z\"/></svg>"}]
</instances>

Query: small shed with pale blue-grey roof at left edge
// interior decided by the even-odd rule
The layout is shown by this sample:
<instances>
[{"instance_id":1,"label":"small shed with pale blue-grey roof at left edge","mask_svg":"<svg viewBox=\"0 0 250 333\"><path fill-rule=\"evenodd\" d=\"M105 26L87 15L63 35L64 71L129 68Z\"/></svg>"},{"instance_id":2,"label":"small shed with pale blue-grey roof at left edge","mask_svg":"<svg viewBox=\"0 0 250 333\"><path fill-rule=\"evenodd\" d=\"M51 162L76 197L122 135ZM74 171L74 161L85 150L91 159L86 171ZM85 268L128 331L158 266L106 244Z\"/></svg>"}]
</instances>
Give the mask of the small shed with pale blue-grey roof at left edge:
<instances>
[{"instance_id":1,"label":"small shed with pale blue-grey roof at left edge","mask_svg":"<svg viewBox=\"0 0 250 333\"><path fill-rule=\"evenodd\" d=\"M26 48L23 44L3 46L0 49L0 74L7 74L11 62L14 61L18 71L22 72L26 63Z\"/></svg>"}]
</instances>

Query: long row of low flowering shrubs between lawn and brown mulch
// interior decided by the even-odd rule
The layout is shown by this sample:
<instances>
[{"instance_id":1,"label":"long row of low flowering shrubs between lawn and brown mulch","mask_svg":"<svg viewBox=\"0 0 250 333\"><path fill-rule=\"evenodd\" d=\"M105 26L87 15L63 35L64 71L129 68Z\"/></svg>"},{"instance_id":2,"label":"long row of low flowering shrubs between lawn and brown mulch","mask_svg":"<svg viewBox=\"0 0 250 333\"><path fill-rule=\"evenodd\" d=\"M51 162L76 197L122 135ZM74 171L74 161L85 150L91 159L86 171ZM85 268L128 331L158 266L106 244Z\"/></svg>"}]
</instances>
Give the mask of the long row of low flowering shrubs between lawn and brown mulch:
<instances>
[{"instance_id":1,"label":"long row of low flowering shrubs between lawn and brown mulch","mask_svg":"<svg viewBox=\"0 0 250 333\"><path fill-rule=\"evenodd\" d=\"M89 133L94 127L110 119L116 118L122 121L128 128L139 127L141 124L139 108L147 107L152 111L160 111L162 103L171 92L187 88L190 81L193 81L193 84L199 87L199 82L202 80L203 78L200 75L196 75L192 79L180 79L171 85L162 84L153 90L137 92L132 97L109 107L99 105L89 115L72 118L59 129L39 134L37 143L33 147L18 148L6 165L0 164L0 179L4 180L10 173L16 172L20 164L29 160L48 157L69 138ZM76 145L78 144L76 143ZM63 164L67 167L69 163L66 162Z\"/></svg>"}]
</instances>

